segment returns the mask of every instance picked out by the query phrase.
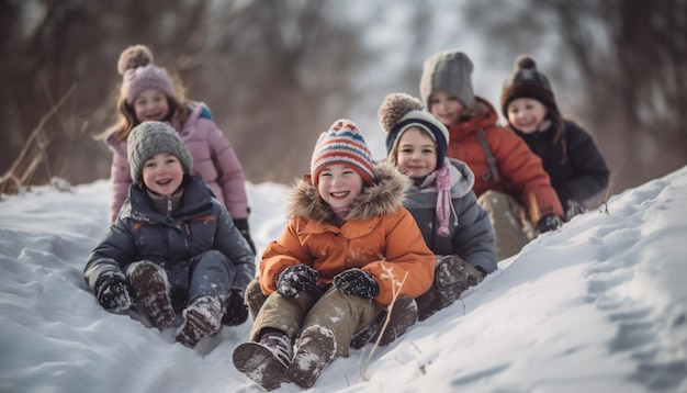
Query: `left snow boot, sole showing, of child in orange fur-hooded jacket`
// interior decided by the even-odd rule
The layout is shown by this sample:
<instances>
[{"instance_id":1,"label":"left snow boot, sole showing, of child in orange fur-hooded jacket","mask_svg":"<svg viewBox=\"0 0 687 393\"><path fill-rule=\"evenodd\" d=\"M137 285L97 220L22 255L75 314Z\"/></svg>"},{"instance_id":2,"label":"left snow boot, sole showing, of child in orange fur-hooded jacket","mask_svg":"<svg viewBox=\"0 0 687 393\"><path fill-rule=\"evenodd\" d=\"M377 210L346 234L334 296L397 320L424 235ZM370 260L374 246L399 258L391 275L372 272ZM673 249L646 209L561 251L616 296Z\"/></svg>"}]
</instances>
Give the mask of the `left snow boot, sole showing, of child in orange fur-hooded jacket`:
<instances>
[{"instance_id":1,"label":"left snow boot, sole showing, of child in orange fur-hooded jacket","mask_svg":"<svg viewBox=\"0 0 687 393\"><path fill-rule=\"evenodd\" d=\"M286 370L293 358L293 346L285 333L272 328L264 330L259 343L244 343L236 347L233 360L238 371L271 391L290 382Z\"/></svg>"}]
</instances>

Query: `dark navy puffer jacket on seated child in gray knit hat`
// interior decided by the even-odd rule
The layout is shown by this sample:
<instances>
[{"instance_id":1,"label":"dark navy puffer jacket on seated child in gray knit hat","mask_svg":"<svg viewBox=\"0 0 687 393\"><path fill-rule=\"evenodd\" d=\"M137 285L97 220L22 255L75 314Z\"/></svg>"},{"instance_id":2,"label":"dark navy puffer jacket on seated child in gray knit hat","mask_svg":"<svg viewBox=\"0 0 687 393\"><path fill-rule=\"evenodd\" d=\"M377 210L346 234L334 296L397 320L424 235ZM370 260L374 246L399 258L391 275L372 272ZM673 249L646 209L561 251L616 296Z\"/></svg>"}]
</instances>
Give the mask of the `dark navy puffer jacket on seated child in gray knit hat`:
<instances>
[{"instance_id":1,"label":"dark navy puffer jacket on seated child in gray knit hat","mask_svg":"<svg viewBox=\"0 0 687 393\"><path fill-rule=\"evenodd\" d=\"M228 271L229 277L210 277L203 282L204 274L200 274L203 280L191 280L200 258L223 265L221 270ZM190 295L216 288L219 279L225 293L216 294L223 300L229 290L244 291L256 274L255 255L248 243L199 176L185 176L181 206L171 215L156 211L146 191L132 186L117 220L89 256L83 274L89 288L98 293L100 276L124 279L127 266L140 260L161 266L170 283Z\"/></svg>"}]
</instances>

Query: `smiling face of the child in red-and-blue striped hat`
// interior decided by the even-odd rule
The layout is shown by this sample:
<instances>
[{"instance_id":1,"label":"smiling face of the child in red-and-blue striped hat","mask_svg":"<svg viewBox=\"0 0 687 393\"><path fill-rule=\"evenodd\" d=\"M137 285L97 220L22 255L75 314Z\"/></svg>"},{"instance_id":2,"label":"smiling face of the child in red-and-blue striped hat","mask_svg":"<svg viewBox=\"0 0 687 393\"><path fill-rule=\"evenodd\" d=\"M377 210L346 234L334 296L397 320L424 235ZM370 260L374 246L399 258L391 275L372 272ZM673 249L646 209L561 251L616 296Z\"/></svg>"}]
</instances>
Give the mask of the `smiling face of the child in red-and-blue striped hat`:
<instances>
[{"instance_id":1,"label":"smiling face of the child in red-and-blue striped hat","mask_svg":"<svg viewBox=\"0 0 687 393\"><path fill-rule=\"evenodd\" d=\"M362 191L362 178L351 167L341 164L328 165L317 178L317 191L331 207L350 206Z\"/></svg>"}]
</instances>

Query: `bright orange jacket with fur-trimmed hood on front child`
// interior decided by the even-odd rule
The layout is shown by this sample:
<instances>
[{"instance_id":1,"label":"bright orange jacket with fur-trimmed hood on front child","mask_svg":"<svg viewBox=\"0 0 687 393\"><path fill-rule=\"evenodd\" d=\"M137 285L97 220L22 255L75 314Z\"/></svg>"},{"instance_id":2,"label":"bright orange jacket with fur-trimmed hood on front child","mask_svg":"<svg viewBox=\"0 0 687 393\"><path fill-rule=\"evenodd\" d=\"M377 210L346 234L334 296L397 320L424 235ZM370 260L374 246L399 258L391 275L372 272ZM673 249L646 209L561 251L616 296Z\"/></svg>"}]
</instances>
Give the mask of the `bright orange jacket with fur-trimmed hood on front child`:
<instances>
[{"instance_id":1,"label":"bright orange jacket with fur-trimmed hood on front child","mask_svg":"<svg viewBox=\"0 0 687 393\"><path fill-rule=\"evenodd\" d=\"M403 207L408 179L387 162L375 166L378 183L364 187L341 227L331 224L334 212L307 179L299 180L289 204L290 218L279 240L268 245L260 262L260 288L277 290L286 267L304 263L319 272L319 283L351 268L372 273L380 284L375 301L391 304L393 285L417 297L435 276L435 256L427 248L410 213ZM407 277L406 277L407 273Z\"/></svg>"}]
</instances>

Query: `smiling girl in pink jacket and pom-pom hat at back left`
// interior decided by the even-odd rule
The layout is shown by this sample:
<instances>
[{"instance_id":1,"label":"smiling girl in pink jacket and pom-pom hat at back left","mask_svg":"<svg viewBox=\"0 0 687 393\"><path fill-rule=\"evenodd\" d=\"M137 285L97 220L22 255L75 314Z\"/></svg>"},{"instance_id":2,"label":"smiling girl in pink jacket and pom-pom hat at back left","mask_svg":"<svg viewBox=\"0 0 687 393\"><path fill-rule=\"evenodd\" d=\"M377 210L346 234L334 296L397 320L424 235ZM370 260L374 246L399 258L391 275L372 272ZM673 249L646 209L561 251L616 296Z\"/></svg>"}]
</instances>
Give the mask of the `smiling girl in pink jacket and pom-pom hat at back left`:
<instances>
[{"instance_id":1,"label":"smiling girl in pink jacket and pom-pom hat at back left","mask_svg":"<svg viewBox=\"0 0 687 393\"><path fill-rule=\"evenodd\" d=\"M224 203L234 224L254 249L248 226L246 177L234 147L213 122L202 102L185 100L181 86L174 86L165 68L153 64L153 53L145 45L129 46L120 55L117 70L122 87L117 109L119 122L105 133L112 157L112 200L110 222L114 222L132 183L126 160L126 139L131 131L145 121L171 125L187 144L193 168Z\"/></svg>"}]
</instances>

